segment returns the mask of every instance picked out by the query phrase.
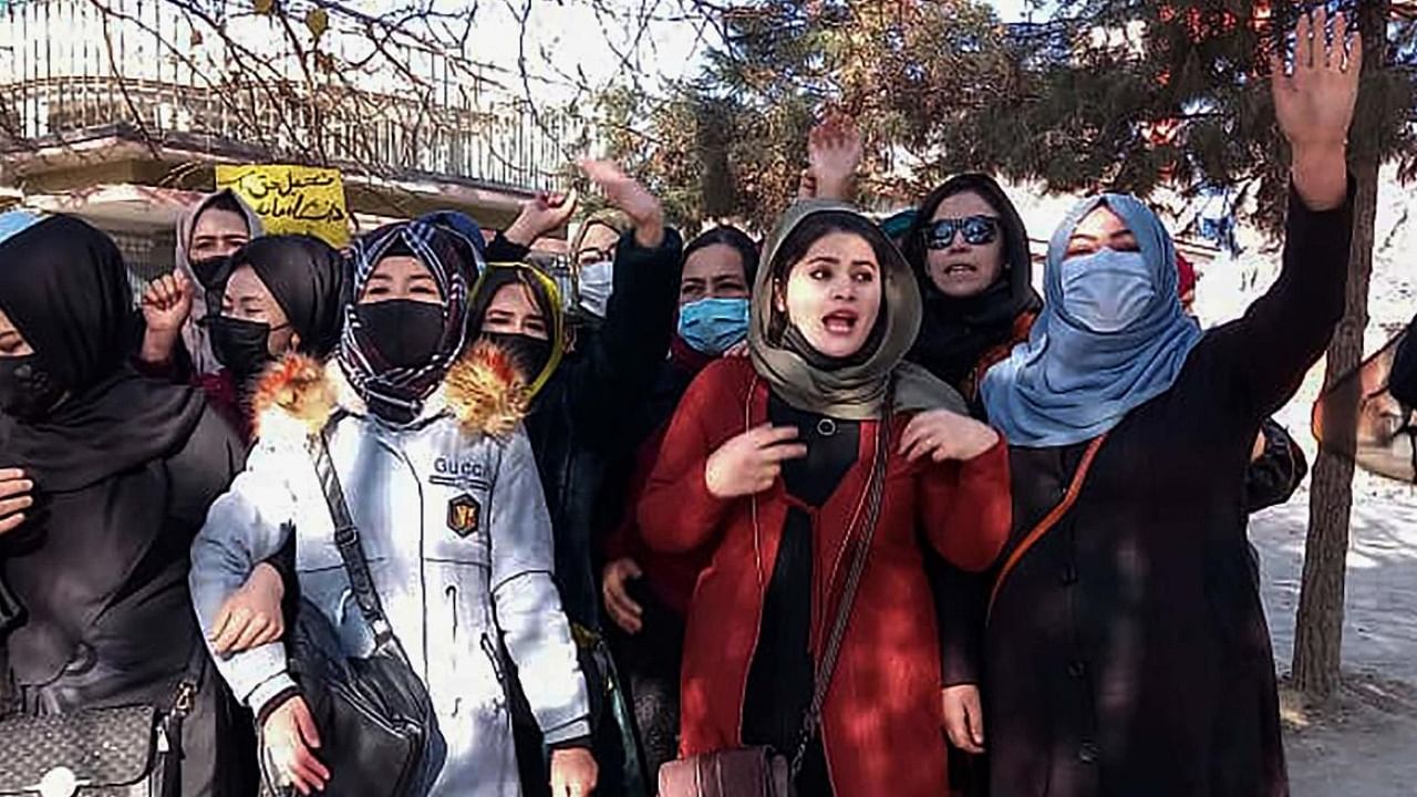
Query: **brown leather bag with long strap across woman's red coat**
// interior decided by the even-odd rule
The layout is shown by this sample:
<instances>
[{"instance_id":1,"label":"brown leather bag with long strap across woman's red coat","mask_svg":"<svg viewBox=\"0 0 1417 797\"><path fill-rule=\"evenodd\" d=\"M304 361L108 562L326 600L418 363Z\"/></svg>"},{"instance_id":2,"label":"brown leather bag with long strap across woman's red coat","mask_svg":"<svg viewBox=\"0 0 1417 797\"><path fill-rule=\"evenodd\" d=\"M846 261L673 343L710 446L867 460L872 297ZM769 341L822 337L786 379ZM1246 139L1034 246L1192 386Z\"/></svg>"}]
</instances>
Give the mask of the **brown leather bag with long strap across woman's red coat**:
<instances>
[{"instance_id":1,"label":"brown leather bag with long strap across woman's red coat","mask_svg":"<svg viewBox=\"0 0 1417 797\"><path fill-rule=\"evenodd\" d=\"M886 411L876 434L876 457L871 461L871 476L866 486L866 523L862 528L860 543L852 557L852 569L846 574L846 586L837 604L832 634L828 637L822 661L816 669L816 688L812 705L802 722L802 735L791 762L771 747L740 747L735 750L714 750L669 762L659 767L659 797L795 797L792 781L802 770L806 749L816 735L822 719L822 705L826 689L832 684L842 640L846 637L846 623L856 601L856 589L866 570L871 539L876 536L876 520L880 518L881 494L886 491L886 461L890 458L890 425L893 391L887 391ZM847 540L852 535L847 533Z\"/></svg>"}]
</instances>

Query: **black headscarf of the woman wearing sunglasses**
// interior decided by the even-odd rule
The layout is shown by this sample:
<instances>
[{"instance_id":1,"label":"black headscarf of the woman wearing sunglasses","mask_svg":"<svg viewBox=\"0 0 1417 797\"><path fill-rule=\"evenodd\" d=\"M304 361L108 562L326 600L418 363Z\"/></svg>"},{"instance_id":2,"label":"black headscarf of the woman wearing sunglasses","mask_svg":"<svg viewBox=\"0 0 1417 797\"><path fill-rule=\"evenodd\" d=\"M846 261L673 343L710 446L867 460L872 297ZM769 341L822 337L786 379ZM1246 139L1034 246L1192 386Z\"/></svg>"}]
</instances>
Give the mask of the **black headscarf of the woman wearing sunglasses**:
<instances>
[{"instance_id":1,"label":"black headscarf of the woman wearing sunglasses","mask_svg":"<svg viewBox=\"0 0 1417 797\"><path fill-rule=\"evenodd\" d=\"M965 191L979 194L999 214L1003 228L1003 272L998 282L978 296L956 299L944 295L930 278L930 250L925 248L924 230L942 201ZM1043 299L1033 289L1033 258L1023 218L999 183L988 174L959 174L931 191L905 231L901 251L915 272L925 305L920 336L907 359L955 387L969 376L988 349L1012 338L1019 315L1043 306Z\"/></svg>"}]
</instances>

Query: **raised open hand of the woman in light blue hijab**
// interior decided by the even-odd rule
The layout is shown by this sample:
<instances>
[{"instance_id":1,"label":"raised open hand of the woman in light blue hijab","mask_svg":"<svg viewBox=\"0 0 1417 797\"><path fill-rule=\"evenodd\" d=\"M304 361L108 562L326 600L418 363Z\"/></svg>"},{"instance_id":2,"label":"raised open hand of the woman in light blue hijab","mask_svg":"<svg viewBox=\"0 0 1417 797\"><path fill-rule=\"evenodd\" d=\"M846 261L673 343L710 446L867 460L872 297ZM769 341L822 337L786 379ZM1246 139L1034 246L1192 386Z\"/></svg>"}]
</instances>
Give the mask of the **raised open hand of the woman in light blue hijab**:
<instances>
[{"instance_id":1,"label":"raised open hand of the woman in light blue hijab","mask_svg":"<svg viewBox=\"0 0 1417 797\"><path fill-rule=\"evenodd\" d=\"M1363 41L1349 38L1348 16L1333 18L1328 35L1323 6L1299 17L1294 30L1294 71L1271 58L1274 115L1294 150L1294 187L1312 210L1329 210L1348 196L1345 152L1357 105Z\"/></svg>"}]
</instances>

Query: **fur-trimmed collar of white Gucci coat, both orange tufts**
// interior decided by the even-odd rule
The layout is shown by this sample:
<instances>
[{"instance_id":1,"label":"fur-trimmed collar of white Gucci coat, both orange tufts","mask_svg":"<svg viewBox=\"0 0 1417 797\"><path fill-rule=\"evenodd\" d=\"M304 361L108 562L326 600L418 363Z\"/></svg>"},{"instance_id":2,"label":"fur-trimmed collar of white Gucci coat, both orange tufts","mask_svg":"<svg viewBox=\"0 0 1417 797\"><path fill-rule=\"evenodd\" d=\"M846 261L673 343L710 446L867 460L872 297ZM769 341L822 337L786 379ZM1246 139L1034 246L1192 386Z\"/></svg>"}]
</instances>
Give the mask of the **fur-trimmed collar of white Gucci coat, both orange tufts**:
<instances>
[{"instance_id":1,"label":"fur-trimmed collar of white Gucci coat, both orange tufts","mask_svg":"<svg viewBox=\"0 0 1417 797\"><path fill-rule=\"evenodd\" d=\"M504 438L526 417L529 396L512 356L479 340L448 369L424 401L424 411L404 428L451 417L468 437ZM305 440L319 434L336 411L368 416L337 359L320 362L305 355L288 355L266 369L251 406L255 434L262 440Z\"/></svg>"}]
</instances>

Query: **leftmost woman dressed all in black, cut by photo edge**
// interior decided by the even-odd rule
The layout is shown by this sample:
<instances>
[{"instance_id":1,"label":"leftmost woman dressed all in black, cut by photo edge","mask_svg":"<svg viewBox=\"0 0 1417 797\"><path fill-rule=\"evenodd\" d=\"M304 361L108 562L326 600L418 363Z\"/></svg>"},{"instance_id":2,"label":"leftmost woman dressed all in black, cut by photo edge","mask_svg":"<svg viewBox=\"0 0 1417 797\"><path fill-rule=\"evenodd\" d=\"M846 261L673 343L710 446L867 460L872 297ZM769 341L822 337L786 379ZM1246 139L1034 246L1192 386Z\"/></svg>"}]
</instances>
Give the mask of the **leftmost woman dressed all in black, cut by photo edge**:
<instances>
[{"instance_id":1,"label":"leftmost woman dressed all in black, cut by photo edge","mask_svg":"<svg viewBox=\"0 0 1417 797\"><path fill-rule=\"evenodd\" d=\"M181 794L222 794L220 679L187 591L187 550L241 467L241 441L201 393L128 363L132 292L113 243L65 216L0 244L0 411L6 467L34 505L0 536L18 606L3 642L30 715L197 693L181 726ZM174 740L179 742L179 740Z\"/></svg>"}]
</instances>

